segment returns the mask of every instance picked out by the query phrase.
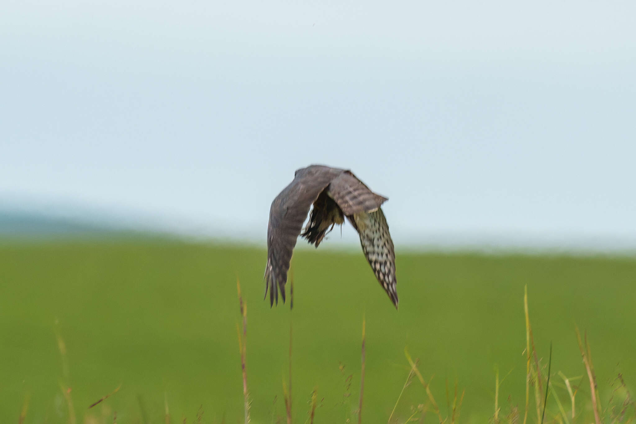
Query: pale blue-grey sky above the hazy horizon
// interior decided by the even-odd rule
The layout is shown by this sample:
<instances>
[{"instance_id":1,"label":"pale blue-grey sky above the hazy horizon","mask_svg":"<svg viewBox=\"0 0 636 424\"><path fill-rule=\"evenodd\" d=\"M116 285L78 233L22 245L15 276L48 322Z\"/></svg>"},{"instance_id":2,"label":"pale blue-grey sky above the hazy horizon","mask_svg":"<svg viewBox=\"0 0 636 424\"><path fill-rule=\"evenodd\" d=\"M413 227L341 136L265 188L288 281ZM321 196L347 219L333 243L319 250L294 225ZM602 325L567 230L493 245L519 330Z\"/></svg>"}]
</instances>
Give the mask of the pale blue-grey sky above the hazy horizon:
<instances>
[{"instance_id":1,"label":"pale blue-grey sky above the hazy horizon","mask_svg":"<svg viewBox=\"0 0 636 424\"><path fill-rule=\"evenodd\" d=\"M0 202L262 242L272 198L324 163L390 198L397 243L636 246L635 16L632 1L5 2Z\"/></svg>"}]
</instances>

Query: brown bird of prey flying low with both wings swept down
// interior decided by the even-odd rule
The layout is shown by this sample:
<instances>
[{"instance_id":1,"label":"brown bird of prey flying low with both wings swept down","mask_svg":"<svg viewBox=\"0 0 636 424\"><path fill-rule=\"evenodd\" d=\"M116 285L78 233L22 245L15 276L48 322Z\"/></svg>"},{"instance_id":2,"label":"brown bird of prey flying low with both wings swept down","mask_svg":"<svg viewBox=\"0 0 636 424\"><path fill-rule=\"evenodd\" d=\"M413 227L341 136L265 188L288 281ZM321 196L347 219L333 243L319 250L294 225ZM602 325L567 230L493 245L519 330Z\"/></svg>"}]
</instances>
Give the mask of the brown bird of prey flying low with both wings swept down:
<instances>
[{"instance_id":1,"label":"brown bird of prey flying low with both wings swept down","mask_svg":"<svg viewBox=\"0 0 636 424\"><path fill-rule=\"evenodd\" d=\"M285 302L285 284L298 236L318 247L345 217L360 235L364 256L397 308L396 266L389 225L380 208L388 199L373 193L350 170L311 165L296 170L294 181L273 200L267 226L265 297ZM309 222L303 222L312 207Z\"/></svg>"}]
</instances>

